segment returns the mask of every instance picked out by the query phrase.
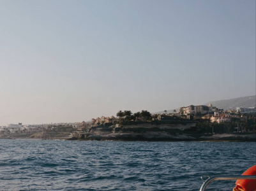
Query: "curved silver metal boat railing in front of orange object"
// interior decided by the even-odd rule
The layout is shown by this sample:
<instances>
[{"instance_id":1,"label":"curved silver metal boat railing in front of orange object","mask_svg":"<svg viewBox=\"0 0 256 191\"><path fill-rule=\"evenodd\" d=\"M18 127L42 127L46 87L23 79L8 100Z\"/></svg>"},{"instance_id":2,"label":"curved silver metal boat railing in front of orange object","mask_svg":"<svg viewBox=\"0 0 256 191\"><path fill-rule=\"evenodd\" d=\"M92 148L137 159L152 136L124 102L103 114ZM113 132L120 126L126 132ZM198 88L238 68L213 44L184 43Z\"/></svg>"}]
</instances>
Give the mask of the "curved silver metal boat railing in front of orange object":
<instances>
[{"instance_id":1,"label":"curved silver metal boat railing in front of orange object","mask_svg":"<svg viewBox=\"0 0 256 191\"><path fill-rule=\"evenodd\" d=\"M207 178L204 180L204 178ZM206 187L209 185L209 183L215 181L215 180L237 180L237 179L256 179L256 176L201 176L202 181L204 183L202 184L200 191L206 190ZM234 185L235 186L235 185Z\"/></svg>"}]
</instances>

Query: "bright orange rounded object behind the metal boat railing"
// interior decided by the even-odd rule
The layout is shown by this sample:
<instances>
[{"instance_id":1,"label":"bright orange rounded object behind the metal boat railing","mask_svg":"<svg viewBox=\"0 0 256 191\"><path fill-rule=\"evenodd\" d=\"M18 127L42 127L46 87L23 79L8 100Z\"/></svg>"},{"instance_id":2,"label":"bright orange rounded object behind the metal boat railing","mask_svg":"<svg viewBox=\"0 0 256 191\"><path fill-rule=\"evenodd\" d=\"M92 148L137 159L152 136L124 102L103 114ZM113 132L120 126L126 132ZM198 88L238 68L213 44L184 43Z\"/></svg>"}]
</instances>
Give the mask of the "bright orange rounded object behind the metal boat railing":
<instances>
[{"instance_id":1,"label":"bright orange rounded object behind the metal boat railing","mask_svg":"<svg viewBox=\"0 0 256 191\"><path fill-rule=\"evenodd\" d=\"M248 168L242 175L256 175L256 165ZM233 191L256 191L256 180L238 179Z\"/></svg>"}]
</instances>

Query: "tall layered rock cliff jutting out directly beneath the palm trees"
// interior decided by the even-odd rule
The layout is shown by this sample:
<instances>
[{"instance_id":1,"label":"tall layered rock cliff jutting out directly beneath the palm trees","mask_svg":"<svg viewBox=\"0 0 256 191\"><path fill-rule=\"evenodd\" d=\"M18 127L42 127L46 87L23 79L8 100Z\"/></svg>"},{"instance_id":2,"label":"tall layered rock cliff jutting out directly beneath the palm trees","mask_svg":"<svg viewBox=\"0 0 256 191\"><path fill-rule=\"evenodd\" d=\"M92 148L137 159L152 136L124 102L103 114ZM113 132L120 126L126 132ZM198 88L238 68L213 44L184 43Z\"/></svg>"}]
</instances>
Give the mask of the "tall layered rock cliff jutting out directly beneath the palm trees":
<instances>
[{"instance_id":1,"label":"tall layered rock cliff jutting out directly beneath the palm trees","mask_svg":"<svg viewBox=\"0 0 256 191\"><path fill-rule=\"evenodd\" d=\"M180 132L195 123L183 124L125 124L110 127L92 127L89 132L74 134L74 138L83 140L118 140L118 141L192 141L192 136Z\"/></svg>"}]
</instances>

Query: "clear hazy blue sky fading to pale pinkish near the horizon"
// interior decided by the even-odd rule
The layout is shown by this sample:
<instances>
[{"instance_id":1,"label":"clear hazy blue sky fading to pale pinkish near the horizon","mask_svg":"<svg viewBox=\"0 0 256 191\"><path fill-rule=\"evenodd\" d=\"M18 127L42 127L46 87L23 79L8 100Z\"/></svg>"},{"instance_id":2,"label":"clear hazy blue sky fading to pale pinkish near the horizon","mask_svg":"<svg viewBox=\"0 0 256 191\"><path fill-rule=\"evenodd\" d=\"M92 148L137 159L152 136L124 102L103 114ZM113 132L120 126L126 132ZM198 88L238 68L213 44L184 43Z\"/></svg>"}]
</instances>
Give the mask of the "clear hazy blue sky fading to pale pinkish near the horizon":
<instances>
[{"instance_id":1,"label":"clear hazy blue sky fading to pale pinkish near the horizon","mask_svg":"<svg viewBox=\"0 0 256 191\"><path fill-rule=\"evenodd\" d=\"M255 0L0 0L0 125L255 95Z\"/></svg>"}]
</instances>

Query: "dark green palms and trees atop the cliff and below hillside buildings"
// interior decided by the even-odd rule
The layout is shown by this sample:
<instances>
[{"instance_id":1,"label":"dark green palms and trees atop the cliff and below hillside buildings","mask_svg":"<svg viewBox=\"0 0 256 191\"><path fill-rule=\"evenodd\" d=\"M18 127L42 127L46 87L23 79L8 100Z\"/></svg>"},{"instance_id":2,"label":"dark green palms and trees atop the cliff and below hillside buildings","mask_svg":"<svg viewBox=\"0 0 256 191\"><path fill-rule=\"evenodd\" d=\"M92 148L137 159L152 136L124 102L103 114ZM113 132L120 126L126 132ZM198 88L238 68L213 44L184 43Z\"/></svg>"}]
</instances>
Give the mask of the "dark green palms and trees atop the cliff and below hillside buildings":
<instances>
[{"instance_id":1,"label":"dark green palms and trees atop the cliff and below hillside buildings","mask_svg":"<svg viewBox=\"0 0 256 191\"><path fill-rule=\"evenodd\" d=\"M124 110L118 111L117 117L119 117L119 125L132 125L138 123L149 122L151 124L186 124L189 120L186 120L181 117L177 117L176 115L167 115L167 111L164 111L165 114L161 115L161 119L158 118L158 114L151 114L147 110L138 111L136 113L132 113L132 111ZM176 112L176 110L175 110ZM220 112L223 112L220 110ZM213 114L213 112L209 112L209 114ZM232 133L232 132L252 132L256 131L256 114L254 115L237 115L236 117L232 117L230 122L211 122L209 119L202 119L205 114L196 113L193 116L192 120L196 123L195 127L190 129L186 129L185 132L188 133Z\"/></svg>"}]
</instances>

